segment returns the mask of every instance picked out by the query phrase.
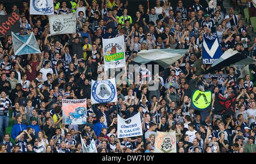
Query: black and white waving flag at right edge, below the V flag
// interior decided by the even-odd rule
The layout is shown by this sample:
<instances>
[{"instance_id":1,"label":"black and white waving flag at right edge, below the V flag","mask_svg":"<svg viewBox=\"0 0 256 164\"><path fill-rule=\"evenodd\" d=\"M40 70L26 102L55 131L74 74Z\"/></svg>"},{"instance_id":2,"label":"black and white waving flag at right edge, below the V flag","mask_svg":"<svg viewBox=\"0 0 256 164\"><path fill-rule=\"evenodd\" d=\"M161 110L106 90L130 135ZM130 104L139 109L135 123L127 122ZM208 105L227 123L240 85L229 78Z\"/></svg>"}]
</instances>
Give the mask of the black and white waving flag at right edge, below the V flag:
<instances>
[{"instance_id":1,"label":"black and white waving flag at right edge, below the V flag","mask_svg":"<svg viewBox=\"0 0 256 164\"><path fill-rule=\"evenodd\" d=\"M247 65L255 63L255 59L248 57L245 54L239 53L237 50L228 49L221 55L220 59L210 66L206 73L221 70L222 68L230 65Z\"/></svg>"}]
</instances>

